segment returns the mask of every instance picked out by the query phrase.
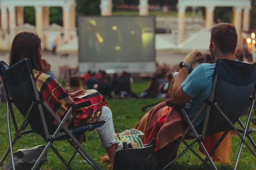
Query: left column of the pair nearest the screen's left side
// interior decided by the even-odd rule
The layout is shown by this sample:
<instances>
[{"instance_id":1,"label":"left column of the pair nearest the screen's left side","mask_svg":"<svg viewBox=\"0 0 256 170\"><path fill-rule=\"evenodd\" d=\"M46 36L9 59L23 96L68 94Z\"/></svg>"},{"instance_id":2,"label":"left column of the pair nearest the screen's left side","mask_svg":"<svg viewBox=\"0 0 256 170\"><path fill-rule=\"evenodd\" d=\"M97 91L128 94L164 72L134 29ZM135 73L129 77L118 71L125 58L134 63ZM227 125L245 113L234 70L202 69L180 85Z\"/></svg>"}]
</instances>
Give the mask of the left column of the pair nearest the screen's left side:
<instances>
[{"instance_id":1,"label":"left column of the pair nearest the screen's left side","mask_svg":"<svg viewBox=\"0 0 256 170\"><path fill-rule=\"evenodd\" d=\"M70 40L70 6L63 6L64 41Z\"/></svg>"}]
</instances>

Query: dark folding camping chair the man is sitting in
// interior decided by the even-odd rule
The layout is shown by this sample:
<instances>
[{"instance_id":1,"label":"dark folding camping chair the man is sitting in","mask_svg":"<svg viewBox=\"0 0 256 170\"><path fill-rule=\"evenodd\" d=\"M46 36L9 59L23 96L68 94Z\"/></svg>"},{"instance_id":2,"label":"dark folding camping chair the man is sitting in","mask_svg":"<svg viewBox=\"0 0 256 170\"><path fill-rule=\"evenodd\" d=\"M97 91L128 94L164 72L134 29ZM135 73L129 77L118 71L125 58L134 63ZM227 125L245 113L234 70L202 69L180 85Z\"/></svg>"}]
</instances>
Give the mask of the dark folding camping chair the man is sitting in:
<instances>
[{"instance_id":1,"label":"dark folding camping chair the man is sitting in","mask_svg":"<svg viewBox=\"0 0 256 170\"><path fill-rule=\"evenodd\" d=\"M251 96L252 94L252 96ZM256 157L256 153L250 147L250 145L244 140L245 137L249 139L250 143L256 150L256 144L253 142L250 136L249 126L250 119L252 116L253 105L256 99L256 64L250 65L243 62L236 62L227 59L218 59L213 74L212 88L210 91L209 99L206 100L201 110L205 107L207 109L204 121L198 126L193 127L192 122L195 122L199 113L195 116L192 122L189 120L184 108L182 106L175 106L172 102L166 102L166 105L170 107L181 107L183 116L188 123L183 136L180 138L175 146L175 149L171 152L171 156L175 153L179 144L183 142L186 145L186 149L180 153L169 164L163 167L165 170L172 162L176 161L180 156L186 153L187 150L191 150L195 156L197 156L203 163L209 161L212 169L217 170L210 156L215 152L219 144L222 142L224 137L227 135L229 130L234 130L237 135L241 138L241 146L239 149L238 157L236 160L235 170L238 167L239 158L241 156L241 150L243 144L245 144L253 156ZM239 117L241 116L244 108L250 103L250 112L246 125L244 126ZM238 122L242 129L236 128L234 124ZM206 136L215 134L218 132L224 132L219 141L215 144L212 151L208 154L202 141ZM242 133L242 135L240 134ZM192 144L187 144L185 139L195 139ZM192 146L195 143L199 143L201 149L206 155L206 159L201 158L194 150ZM171 158L171 156L169 158Z\"/></svg>"}]
</instances>

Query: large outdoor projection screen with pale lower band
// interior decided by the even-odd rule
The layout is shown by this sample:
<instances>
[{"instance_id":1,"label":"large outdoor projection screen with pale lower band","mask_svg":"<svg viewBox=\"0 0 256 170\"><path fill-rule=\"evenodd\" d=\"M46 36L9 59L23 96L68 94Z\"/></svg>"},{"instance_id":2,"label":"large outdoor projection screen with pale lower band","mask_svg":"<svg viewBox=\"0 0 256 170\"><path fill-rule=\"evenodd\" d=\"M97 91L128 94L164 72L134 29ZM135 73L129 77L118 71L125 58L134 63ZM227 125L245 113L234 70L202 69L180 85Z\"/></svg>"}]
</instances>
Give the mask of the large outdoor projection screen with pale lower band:
<instances>
[{"instance_id":1,"label":"large outdoor projection screen with pale lower band","mask_svg":"<svg viewBox=\"0 0 256 170\"><path fill-rule=\"evenodd\" d=\"M154 16L81 16L79 71L155 72Z\"/></svg>"}]
</instances>

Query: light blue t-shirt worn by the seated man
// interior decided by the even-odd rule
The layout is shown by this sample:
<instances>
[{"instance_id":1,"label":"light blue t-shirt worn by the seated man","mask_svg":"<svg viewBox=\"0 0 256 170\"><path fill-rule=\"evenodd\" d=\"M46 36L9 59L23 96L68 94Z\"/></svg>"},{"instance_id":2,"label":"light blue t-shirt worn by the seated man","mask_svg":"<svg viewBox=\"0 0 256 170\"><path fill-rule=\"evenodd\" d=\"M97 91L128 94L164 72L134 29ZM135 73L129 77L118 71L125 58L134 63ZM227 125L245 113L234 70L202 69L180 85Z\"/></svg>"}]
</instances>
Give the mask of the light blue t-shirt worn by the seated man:
<instances>
[{"instance_id":1,"label":"light blue t-shirt worn by the seated man","mask_svg":"<svg viewBox=\"0 0 256 170\"><path fill-rule=\"evenodd\" d=\"M234 59L234 61L237 60ZM193 98L184 106L184 109L191 121L204 105L205 100L209 99L215 65L216 64L209 63L199 64L181 84L183 91ZM202 113L198 116L197 120L193 124L194 127L198 126L204 120L206 109L207 107L205 107Z\"/></svg>"}]
</instances>

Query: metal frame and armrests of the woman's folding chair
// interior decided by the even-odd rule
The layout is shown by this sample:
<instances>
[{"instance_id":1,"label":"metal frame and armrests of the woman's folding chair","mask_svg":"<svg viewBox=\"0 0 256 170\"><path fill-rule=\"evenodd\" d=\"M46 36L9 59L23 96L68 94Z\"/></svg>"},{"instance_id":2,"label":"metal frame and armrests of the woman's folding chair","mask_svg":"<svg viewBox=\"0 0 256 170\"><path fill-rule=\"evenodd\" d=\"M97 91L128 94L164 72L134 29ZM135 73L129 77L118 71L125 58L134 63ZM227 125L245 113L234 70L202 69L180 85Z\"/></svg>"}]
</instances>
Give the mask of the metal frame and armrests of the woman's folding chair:
<instances>
[{"instance_id":1,"label":"metal frame and armrests of the woman's folding chair","mask_svg":"<svg viewBox=\"0 0 256 170\"><path fill-rule=\"evenodd\" d=\"M78 152L82 156L82 158L85 161L87 161L95 170L101 170L99 165L96 164L96 162L90 157L90 155L87 153L87 151L81 145L81 140L83 139L83 136L81 137L81 140L78 141L76 139L76 137L73 135L73 133L85 132L85 131L92 130L93 128L95 128L93 126L93 124L84 125L82 127L78 127L78 128L73 129L73 130L69 130L67 127L64 126L64 123L66 122L66 120L68 119L70 114L73 112L73 110L76 110L77 108L82 108L82 107L88 106L88 102L83 102L83 103L79 103L79 104L73 105L72 108L70 108L67 111L66 116L64 116L64 118L62 120L60 120L56 116L56 114L52 111L52 109L49 107L49 105L47 105L47 103L45 103L44 99L40 99L39 94L38 94L38 90L36 88L35 79L32 76L32 74L29 74L29 76L30 76L30 81L32 82L32 88L33 88L33 92L35 94L35 99L36 100L32 101L32 104L30 105L30 108L27 111L26 116L25 116L25 118L23 120L23 123L20 126L20 128L18 128L16 119L15 119L15 113L14 113L13 107L12 107L12 103L13 103L12 99L9 96L8 90L6 88L6 84L3 81L4 90L5 90L6 94L7 94L6 107L7 107L7 123L8 123L8 133L9 133L9 144L10 144L10 146L6 150L6 152L3 155L2 159L0 160L0 167L3 165L3 162L5 161L6 157L11 152L12 167L13 167L13 170L15 170L15 164L14 164L14 159L13 159L13 146L16 144L16 142L18 141L18 139L20 139L21 136L24 136L24 135L29 134L29 133L34 133L34 131L32 129L30 129L30 130L25 130L25 129L29 125L29 123L27 122L27 119L29 117L29 114L31 113L32 108L35 105L38 105L38 111L39 111L39 115L41 116L41 120L42 120L42 124L43 124L43 128L44 128L44 134L45 134L45 137L46 137L46 139L44 139L44 140L47 143L47 145L45 146L43 152L41 153L41 155L39 156L38 160L35 162L34 166L32 167L32 170L36 170L36 168L40 164L41 160L43 159L44 155L47 153L47 150L49 149L49 147L58 156L58 158L61 159L61 161L65 164L66 167L70 166L72 160L74 159L76 153ZM44 116L43 106L44 106L44 108L46 108L46 110L59 123L59 125L58 125L57 129L55 130L55 133L53 133L53 135L49 135L49 131L48 131L48 127L47 127L47 122L46 122L46 119L45 119L45 116ZM10 115L12 117L13 125L14 125L14 128L15 128L15 138L14 138L14 140L12 140L12 136L11 136ZM101 126L101 125L104 125L105 122L101 121L101 122L98 122L98 123L100 123L99 126ZM97 126L97 127L99 127L99 126ZM61 129L64 130L64 132L60 133ZM67 139L67 141L75 149L75 153L72 155L72 157L70 158L70 160L68 162L63 158L63 156L61 156L61 154L58 152L58 150L53 146L53 142L55 142L55 139L57 137L61 137L61 136L68 136L69 139ZM72 139L73 141L71 142L70 139ZM73 143L75 143L77 147Z\"/></svg>"}]
</instances>

